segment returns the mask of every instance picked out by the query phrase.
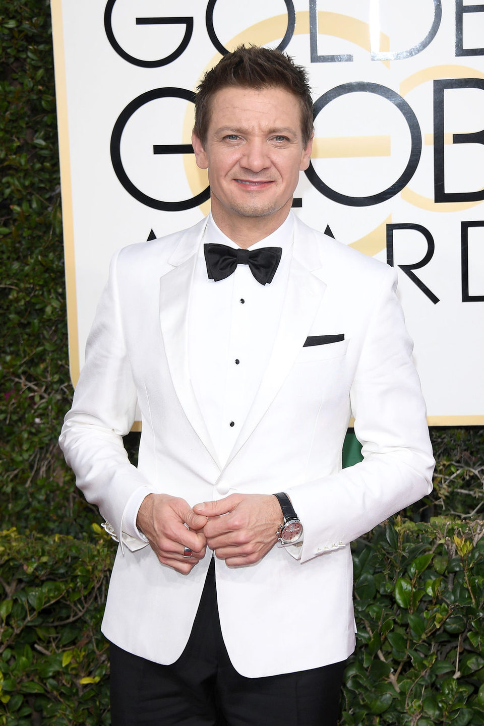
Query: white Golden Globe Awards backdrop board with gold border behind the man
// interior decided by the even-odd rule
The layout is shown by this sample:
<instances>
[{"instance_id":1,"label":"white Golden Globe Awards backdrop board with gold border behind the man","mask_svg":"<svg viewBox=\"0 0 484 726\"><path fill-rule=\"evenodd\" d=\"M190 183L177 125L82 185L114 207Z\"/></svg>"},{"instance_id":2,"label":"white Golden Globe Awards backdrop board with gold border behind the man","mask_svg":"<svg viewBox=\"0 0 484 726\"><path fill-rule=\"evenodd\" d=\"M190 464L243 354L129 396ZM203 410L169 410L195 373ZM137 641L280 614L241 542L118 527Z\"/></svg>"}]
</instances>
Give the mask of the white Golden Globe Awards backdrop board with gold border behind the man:
<instances>
[{"instance_id":1,"label":"white Golden Globe Awards backdrop board with gold border behind the man","mask_svg":"<svg viewBox=\"0 0 484 726\"><path fill-rule=\"evenodd\" d=\"M316 141L295 213L398 267L429 423L484 423L480 7L52 0L73 382L112 253L208 213L190 99L245 42L308 68Z\"/></svg>"}]
</instances>

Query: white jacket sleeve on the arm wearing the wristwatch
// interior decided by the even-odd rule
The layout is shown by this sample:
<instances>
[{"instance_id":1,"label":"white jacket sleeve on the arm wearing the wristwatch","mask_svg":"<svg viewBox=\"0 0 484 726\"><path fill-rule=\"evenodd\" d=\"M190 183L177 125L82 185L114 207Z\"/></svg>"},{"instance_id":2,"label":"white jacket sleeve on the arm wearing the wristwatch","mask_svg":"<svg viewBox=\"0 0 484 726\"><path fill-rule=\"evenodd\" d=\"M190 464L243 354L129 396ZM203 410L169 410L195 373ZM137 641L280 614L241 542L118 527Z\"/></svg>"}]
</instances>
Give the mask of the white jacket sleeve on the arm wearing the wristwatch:
<instances>
[{"instance_id":1,"label":"white jacket sleeve on the arm wearing the wristwatch","mask_svg":"<svg viewBox=\"0 0 484 726\"><path fill-rule=\"evenodd\" d=\"M413 346L395 272L387 268L382 277L350 388L364 460L287 490L305 528L302 563L347 546L432 490L435 462Z\"/></svg>"}]
</instances>

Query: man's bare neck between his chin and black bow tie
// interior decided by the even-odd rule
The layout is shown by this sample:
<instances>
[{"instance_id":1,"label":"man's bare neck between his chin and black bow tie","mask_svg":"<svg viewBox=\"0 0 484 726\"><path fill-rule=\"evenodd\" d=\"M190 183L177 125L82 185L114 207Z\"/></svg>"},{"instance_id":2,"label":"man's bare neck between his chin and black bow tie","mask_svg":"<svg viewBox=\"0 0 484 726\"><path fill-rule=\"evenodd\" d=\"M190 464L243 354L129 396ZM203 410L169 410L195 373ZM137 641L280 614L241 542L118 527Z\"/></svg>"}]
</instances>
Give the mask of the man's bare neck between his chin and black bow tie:
<instances>
[{"instance_id":1,"label":"man's bare neck between his chin and black bow tie","mask_svg":"<svg viewBox=\"0 0 484 726\"><path fill-rule=\"evenodd\" d=\"M212 200L212 217L218 229L235 242L243 250L247 250L255 242L260 242L279 229L290 213L292 199L290 202L273 214L262 217L229 216L217 208Z\"/></svg>"}]
</instances>

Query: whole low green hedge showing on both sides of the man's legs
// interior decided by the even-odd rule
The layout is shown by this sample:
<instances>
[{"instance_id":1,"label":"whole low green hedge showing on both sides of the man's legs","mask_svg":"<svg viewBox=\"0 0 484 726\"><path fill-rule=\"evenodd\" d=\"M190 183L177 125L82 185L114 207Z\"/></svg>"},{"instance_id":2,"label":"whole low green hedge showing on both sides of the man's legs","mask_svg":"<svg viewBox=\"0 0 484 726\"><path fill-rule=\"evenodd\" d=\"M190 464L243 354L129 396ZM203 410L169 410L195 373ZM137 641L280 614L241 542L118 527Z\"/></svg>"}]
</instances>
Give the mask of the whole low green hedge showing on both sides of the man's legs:
<instances>
[{"instance_id":1,"label":"whole low green hedge showing on both sides of the man's legs","mask_svg":"<svg viewBox=\"0 0 484 726\"><path fill-rule=\"evenodd\" d=\"M396 518L354 543L344 726L482 726L483 534ZM95 539L0 534L1 726L110 723L99 626L115 547Z\"/></svg>"}]
</instances>

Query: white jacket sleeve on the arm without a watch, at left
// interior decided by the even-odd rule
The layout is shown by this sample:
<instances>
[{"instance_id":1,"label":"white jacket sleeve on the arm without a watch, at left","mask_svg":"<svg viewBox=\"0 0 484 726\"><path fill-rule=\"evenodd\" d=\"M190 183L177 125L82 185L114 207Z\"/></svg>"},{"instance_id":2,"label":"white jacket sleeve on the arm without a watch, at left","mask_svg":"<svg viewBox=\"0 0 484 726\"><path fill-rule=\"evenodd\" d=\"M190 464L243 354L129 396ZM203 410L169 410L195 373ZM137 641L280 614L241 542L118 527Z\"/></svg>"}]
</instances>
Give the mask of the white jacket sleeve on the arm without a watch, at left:
<instances>
[{"instance_id":1,"label":"white jacket sleeve on the arm without a watch, at left","mask_svg":"<svg viewBox=\"0 0 484 726\"><path fill-rule=\"evenodd\" d=\"M107 521L113 537L137 550L143 540L123 534L125 507L137 490L155 489L128 461L123 436L131 429L136 411L136 386L123 338L116 269L97 307L86 343L86 362L75 388L73 406L65 416L59 444L75 483ZM139 497L139 495L138 495Z\"/></svg>"}]
</instances>

